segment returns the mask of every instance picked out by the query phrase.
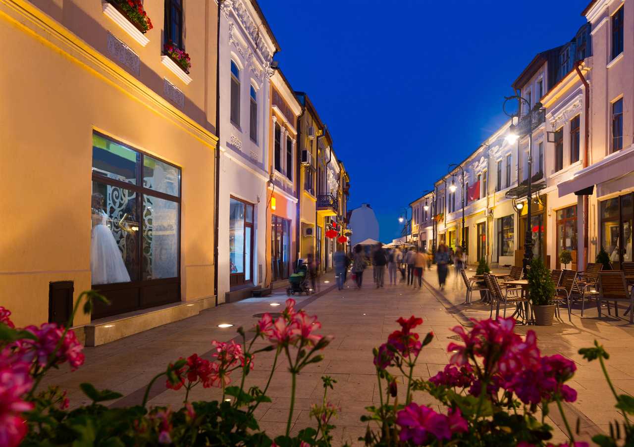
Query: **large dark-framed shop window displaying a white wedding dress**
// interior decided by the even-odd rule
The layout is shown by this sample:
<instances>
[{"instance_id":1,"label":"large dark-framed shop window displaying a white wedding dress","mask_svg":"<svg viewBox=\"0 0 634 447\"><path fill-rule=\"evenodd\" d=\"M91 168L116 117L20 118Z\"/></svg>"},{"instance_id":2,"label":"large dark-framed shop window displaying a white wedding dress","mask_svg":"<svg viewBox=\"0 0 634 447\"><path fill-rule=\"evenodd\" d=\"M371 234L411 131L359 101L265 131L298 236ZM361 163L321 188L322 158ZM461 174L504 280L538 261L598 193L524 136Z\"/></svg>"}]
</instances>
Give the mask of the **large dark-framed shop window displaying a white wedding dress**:
<instances>
[{"instance_id":1,"label":"large dark-framed shop window displaying a white wedding dress","mask_svg":"<svg viewBox=\"0 0 634 447\"><path fill-rule=\"evenodd\" d=\"M181 170L93 133L92 172L92 283L131 283L105 289L112 306L94 309L93 318L178 301ZM143 290L169 278L165 294ZM124 288L136 292L119 299ZM147 294L143 302L130 299L139 293Z\"/></svg>"}]
</instances>

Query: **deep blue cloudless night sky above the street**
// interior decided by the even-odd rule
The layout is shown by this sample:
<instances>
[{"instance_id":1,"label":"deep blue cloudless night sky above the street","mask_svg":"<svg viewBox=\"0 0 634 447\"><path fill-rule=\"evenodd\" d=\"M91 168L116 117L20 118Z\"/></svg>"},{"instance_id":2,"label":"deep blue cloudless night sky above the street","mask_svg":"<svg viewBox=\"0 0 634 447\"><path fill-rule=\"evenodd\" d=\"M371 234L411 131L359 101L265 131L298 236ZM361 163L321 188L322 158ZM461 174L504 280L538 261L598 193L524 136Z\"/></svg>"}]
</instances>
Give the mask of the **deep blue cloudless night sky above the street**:
<instances>
[{"instance_id":1,"label":"deep blue cloudless night sky above the street","mask_svg":"<svg viewBox=\"0 0 634 447\"><path fill-rule=\"evenodd\" d=\"M505 122L510 84L572 39L589 0L259 0L275 59L306 91L380 239L403 207Z\"/></svg>"}]
</instances>

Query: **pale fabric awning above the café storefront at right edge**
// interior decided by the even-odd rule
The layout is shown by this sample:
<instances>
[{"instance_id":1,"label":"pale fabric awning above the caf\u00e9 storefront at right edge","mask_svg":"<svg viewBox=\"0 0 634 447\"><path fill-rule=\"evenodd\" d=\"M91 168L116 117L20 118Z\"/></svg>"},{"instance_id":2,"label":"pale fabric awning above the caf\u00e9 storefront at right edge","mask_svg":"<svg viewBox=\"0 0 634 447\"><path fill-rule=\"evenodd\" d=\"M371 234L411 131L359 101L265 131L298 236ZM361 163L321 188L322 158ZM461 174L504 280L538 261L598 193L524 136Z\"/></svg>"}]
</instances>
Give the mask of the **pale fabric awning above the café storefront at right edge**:
<instances>
[{"instance_id":1,"label":"pale fabric awning above the caf\u00e9 storefront at right edge","mask_svg":"<svg viewBox=\"0 0 634 447\"><path fill-rule=\"evenodd\" d=\"M606 181L619 178L634 171L634 145L619 150L592 164L581 171L575 172L573 178L562 181L557 185L559 197L581 191L590 186L600 185ZM630 185L631 186L631 185ZM597 191L598 195L601 195Z\"/></svg>"}]
</instances>

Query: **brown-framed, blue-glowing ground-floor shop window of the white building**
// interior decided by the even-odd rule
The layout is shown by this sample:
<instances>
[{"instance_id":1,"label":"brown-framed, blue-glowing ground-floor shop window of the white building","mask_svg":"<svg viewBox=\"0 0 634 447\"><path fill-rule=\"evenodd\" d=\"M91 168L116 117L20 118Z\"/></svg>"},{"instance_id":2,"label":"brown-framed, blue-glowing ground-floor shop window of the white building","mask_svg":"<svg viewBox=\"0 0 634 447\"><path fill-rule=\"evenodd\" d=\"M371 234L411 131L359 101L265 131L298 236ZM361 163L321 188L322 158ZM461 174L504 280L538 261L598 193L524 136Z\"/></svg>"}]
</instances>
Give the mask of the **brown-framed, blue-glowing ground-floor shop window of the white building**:
<instances>
[{"instance_id":1,"label":"brown-framed, blue-glowing ground-floor shop window of the white building","mask_svg":"<svg viewBox=\"0 0 634 447\"><path fill-rule=\"evenodd\" d=\"M253 205L235 197L229 203L230 286L253 282Z\"/></svg>"}]
</instances>

